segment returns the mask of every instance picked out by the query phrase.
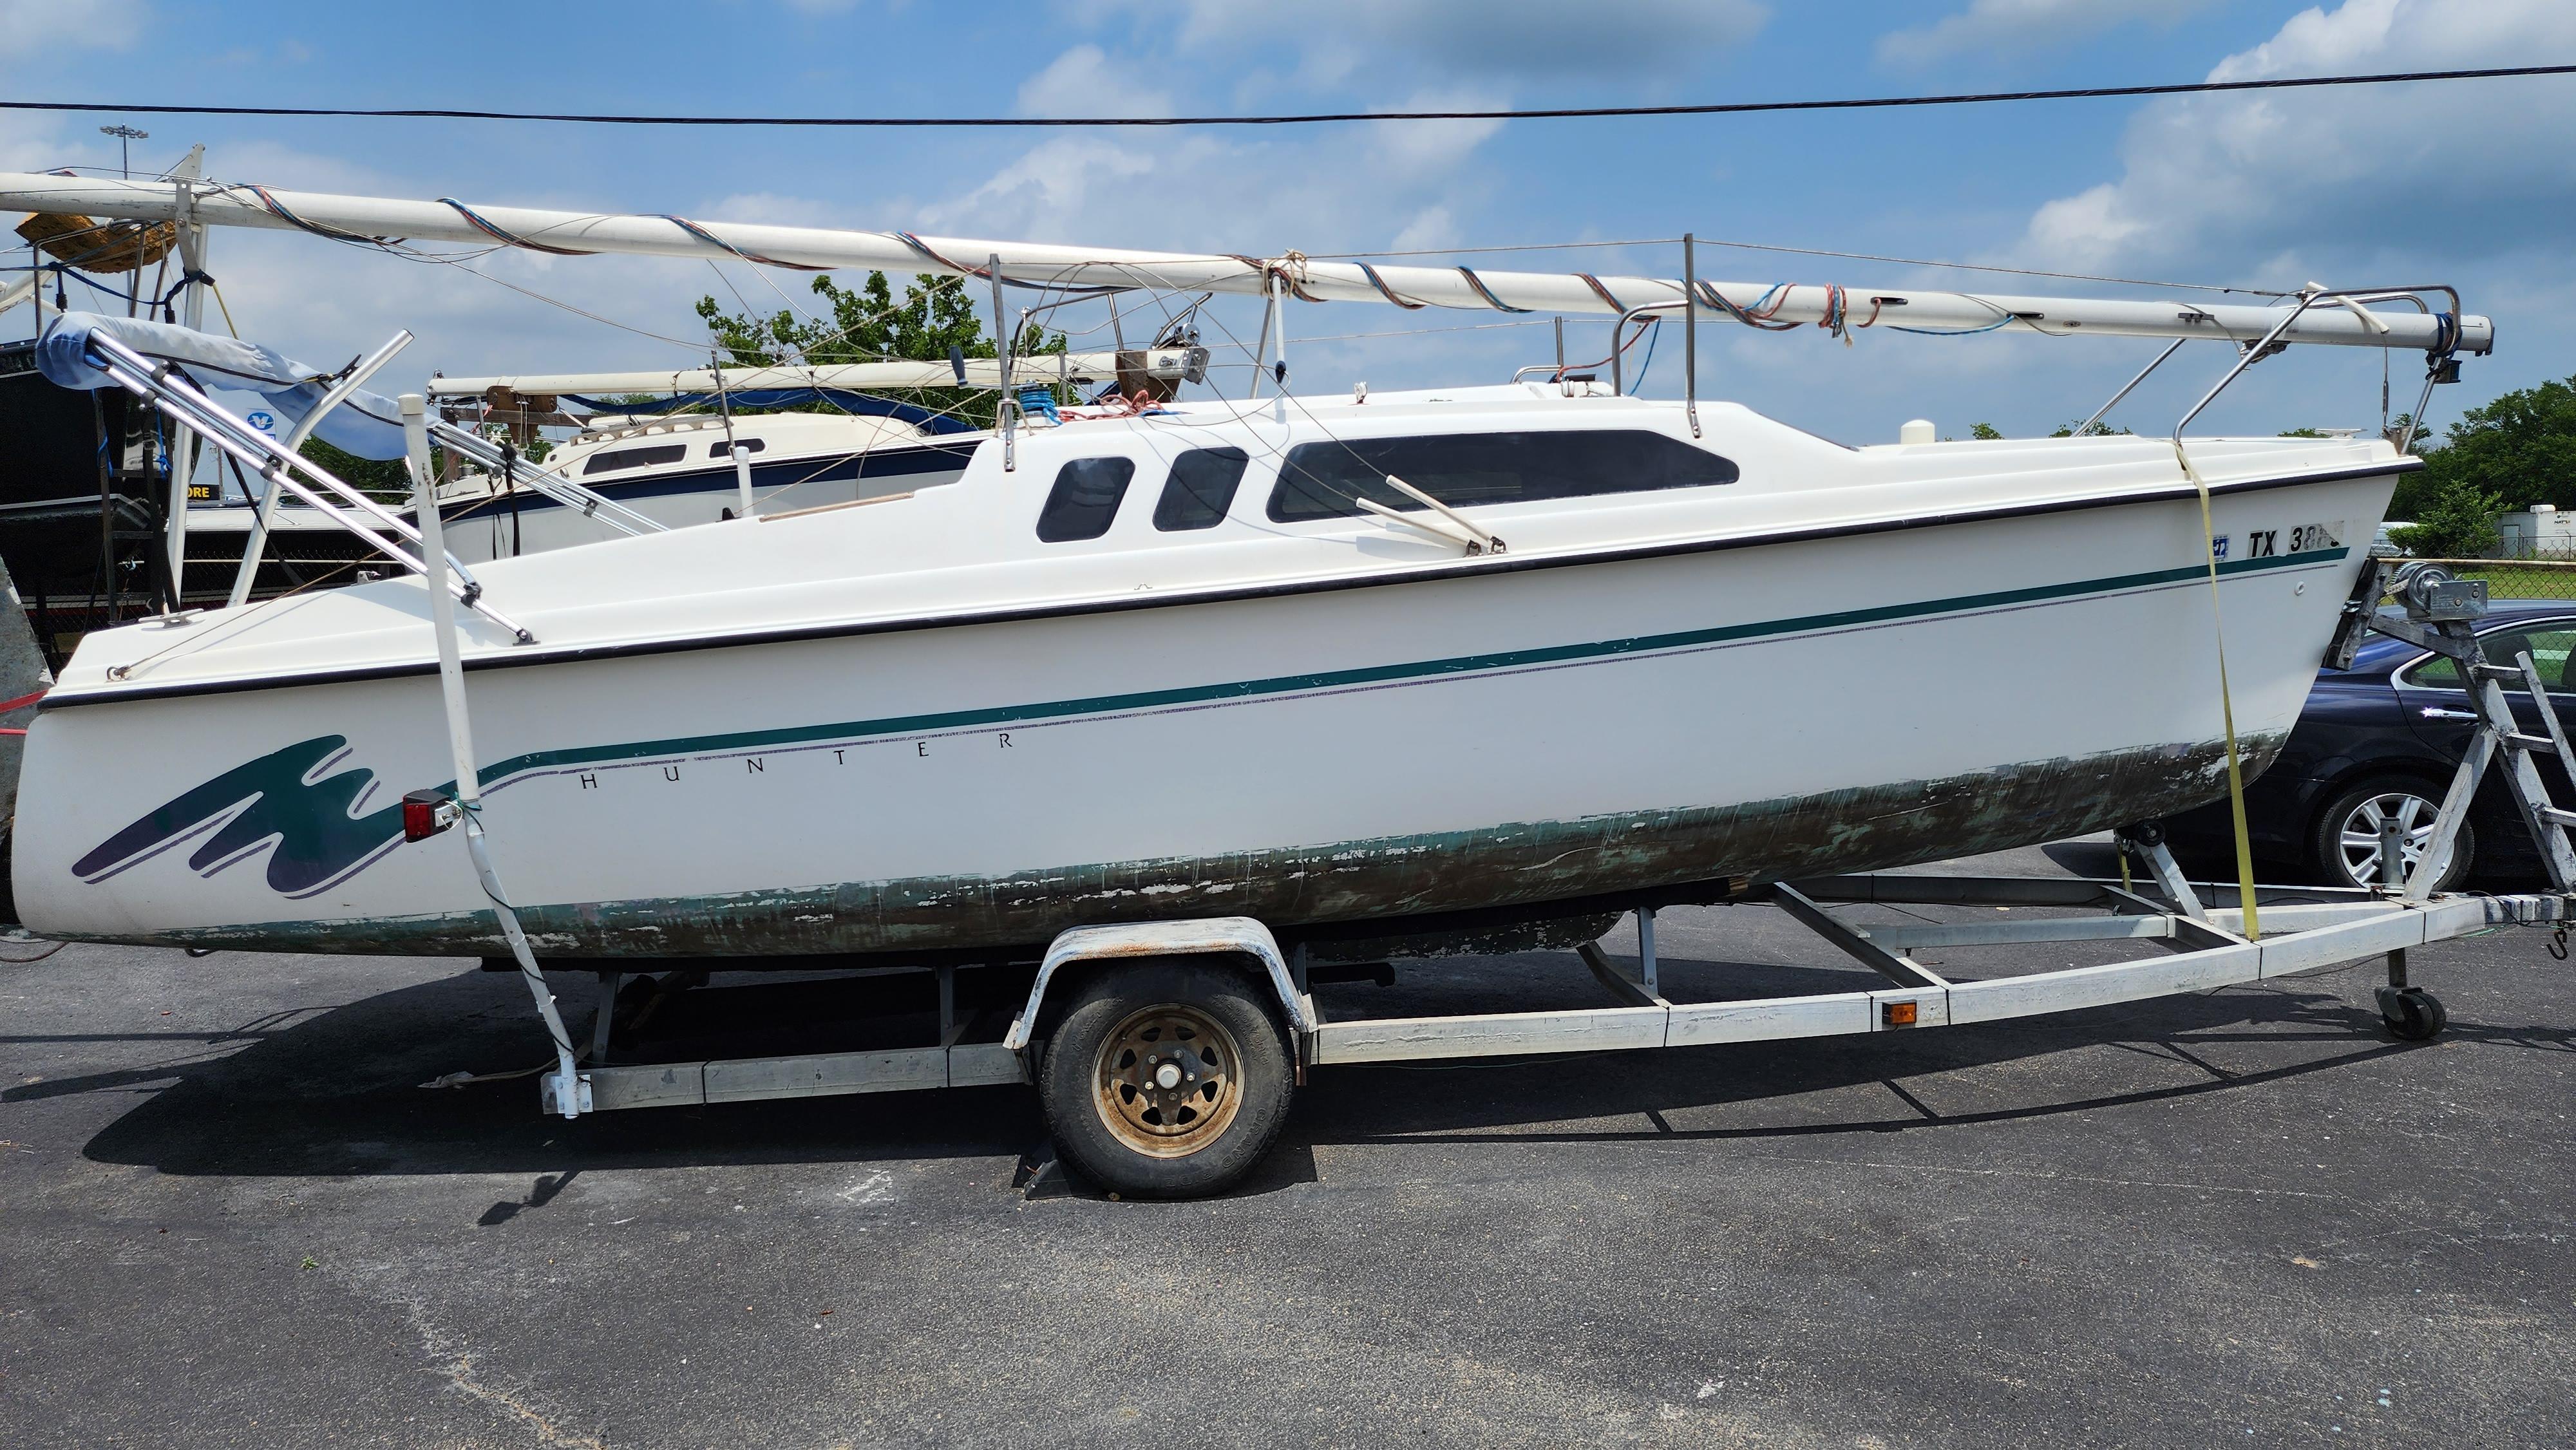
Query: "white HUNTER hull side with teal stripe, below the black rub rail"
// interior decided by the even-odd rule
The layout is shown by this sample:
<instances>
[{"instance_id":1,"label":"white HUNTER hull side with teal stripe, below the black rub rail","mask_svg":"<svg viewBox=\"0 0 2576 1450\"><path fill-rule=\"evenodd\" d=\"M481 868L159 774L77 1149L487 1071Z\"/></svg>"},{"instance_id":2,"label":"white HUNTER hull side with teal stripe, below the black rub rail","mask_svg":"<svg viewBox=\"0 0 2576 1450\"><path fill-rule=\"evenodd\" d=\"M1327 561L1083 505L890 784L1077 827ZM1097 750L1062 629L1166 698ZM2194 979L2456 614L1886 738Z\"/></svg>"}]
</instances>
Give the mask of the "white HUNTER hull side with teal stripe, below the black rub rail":
<instances>
[{"instance_id":1,"label":"white HUNTER hull side with teal stripe, below the black rub rail","mask_svg":"<svg viewBox=\"0 0 2576 1450\"><path fill-rule=\"evenodd\" d=\"M2277 543L2221 587L2249 773L2391 482L2215 500L2218 533ZM999 950L1888 868L2223 793L2202 551L2197 500L2166 492L471 670L484 827L554 958ZM52 708L18 904L52 937L500 950L464 845L399 834L399 796L451 775L420 672Z\"/></svg>"}]
</instances>

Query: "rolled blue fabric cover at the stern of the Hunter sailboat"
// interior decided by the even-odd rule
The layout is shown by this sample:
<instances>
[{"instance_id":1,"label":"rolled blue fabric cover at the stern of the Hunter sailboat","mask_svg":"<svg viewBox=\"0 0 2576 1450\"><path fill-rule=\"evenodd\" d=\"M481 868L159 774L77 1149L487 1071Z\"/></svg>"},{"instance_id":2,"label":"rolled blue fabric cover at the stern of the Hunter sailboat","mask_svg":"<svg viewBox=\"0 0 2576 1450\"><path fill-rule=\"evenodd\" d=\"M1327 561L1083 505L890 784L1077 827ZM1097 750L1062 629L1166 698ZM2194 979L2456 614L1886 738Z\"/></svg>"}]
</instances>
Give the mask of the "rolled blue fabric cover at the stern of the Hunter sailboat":
<instances>
[{"instance_id":1,"label":"rolled blue fabric cover at the stern of the Hunter sailboat","mask_svg":"<svg viewBox=\"0 0 2576 1450\"><path fill-rule=\"evenodd\" d=\"M142 317L103 317L98 312L64 312L36 343L36 371L67 389L111 389L116 381L90 361L90 337L113 337L157 363L178 363L183 373L204 389L255 391L278 410L281 435L304 422L304 415L330 391L330 376L304 363L242 343L216 337L175 322L149 322ZM402 412L394 399L366 389L348 394L340 407L322 415L314 438L361 458L402 458Z\"/></svg>"}]
</instances>

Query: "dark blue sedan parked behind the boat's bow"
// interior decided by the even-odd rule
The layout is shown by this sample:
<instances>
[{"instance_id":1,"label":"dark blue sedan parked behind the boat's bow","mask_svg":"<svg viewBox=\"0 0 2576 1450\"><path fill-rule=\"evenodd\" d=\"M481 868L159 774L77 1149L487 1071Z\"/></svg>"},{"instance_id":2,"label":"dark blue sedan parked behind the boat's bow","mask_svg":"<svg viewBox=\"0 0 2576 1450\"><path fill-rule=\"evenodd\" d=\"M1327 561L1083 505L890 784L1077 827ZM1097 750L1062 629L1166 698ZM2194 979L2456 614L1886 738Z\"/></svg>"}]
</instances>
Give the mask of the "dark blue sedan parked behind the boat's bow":
<instances>
[{"instance_id":1,"label":"dark blue sedan parked behind the boat's bow","mask_svg":"<svg viewBox=\"0 0 2576 1450\"><path fill-rule=\"evenodd\" d=\"M2494 662L2530 649L2550 690L2558 719L2576 726L2576 600L2499 600L2478 626ZM2506 688L2527 734L2543 734L2537 711ZM2380 822L2406 829L2406 871L2432 840L2450 775L2468 749L2476 716L2460 688L2460 667L2439 654L2388 636L2372 636L2352 670L2318 670L2316 688L2290 742L2262 778L2246 786L2246 827L2264 865L2290 868L2326 886L2372 883L2380 873ZM2566 767L2537 757L2550 796L2571 801ZM2460 850L2442 886L2470 876L2537 876L2540 858L2499 775L2486 770ZM2164 822L2174 847L2192 858L2231 858L2236 850L2228 804L2215 801ZM2233 876L2233 873L2228 873Z\"/></svg>"}]
</instances>

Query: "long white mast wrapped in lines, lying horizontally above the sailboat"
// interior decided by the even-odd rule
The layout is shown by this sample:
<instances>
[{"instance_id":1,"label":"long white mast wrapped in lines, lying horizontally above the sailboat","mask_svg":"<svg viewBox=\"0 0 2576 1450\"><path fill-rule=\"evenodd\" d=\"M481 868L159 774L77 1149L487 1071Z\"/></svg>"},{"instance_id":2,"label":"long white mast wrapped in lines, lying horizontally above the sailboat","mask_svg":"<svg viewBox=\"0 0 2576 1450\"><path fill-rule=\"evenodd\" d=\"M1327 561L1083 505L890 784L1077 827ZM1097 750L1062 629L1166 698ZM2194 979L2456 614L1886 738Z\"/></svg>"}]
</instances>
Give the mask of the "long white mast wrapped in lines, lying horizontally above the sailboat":
<instances>
[{"instance_id":1,"label":"long white mast wrapped in lines, lying horizontally above the sailboat","mask_svg":"<svg viewBox=\"0 0 2576 1450\"><path fill-rule=\"evenodd\" d=\"M397 201L273 191L211 180L118 180L0 173L0 209L70 211L121 219L188 219L206 227L304 229L348 242L500 242L554 255L626 252L654 258L744 260L799 270L884 268L896 273L992 276L1048 288L1157 291L1285 291L1306 301L1391 301L1481 312L1631 314L1680 309L1672 278L1589 273L1504 273L1321 263L1301 252L1239 258L1211 252L1136 252L1115 247L1051 247L917 237L912 232L842 232L693 221L685 216L621 216L533 206L469 206L464 201ZM2043 332L2110 337L2262 340L2280 312L2244 304L2107 301L2066 296L1999 296L1911 288L1842 288L1790 283L1700 281L1698 312L1757 327L1909 327L1927 332ZM2427 288L2445 291L2445 288ZM2486 317L2421 312L2409 301L2313 306L2280 337L2342 348L2409 348L2486 353Z\"/></svg>"}]
</instances>

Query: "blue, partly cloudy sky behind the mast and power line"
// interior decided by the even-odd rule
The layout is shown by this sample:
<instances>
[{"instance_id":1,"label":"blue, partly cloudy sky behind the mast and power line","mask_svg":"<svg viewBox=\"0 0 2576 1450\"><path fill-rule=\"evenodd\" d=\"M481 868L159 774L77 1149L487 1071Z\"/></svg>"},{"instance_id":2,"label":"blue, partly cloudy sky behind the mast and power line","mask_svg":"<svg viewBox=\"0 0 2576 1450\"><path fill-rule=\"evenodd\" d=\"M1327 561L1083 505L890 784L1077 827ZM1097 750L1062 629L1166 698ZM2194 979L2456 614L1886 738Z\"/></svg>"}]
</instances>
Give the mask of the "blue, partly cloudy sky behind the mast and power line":
<instances>
[{"instance_id":1,"label":"blue, partly cloudy sky behind the mast and power line","mask_svg":"<svg viewBox=\"0 0 2576 1450\"><path fill-rule=\"evenodd\" d=\"M2576 62L2566 0L1543 0L1401 3L719 0L706 5L175 5L0 0L0 93L307 106L801 113L1206 113L1589 106L2069 88ZM106 116L0 118L0 167L113 165ZM142 118L137 165L206 142L227 180L384 196L683 211L1224 252L1363 252L1674 237L2195 283L2452 281L2499 350L2437 394L2445 422L2576 373L2576 77L2370 93L2081 100L1839 116L1350 124L1296 131L698 131L435 121ZM1677 270L1669 245L1489 265ZM224 232L247 335L337 363L410 327L410 376L672 366L696 296L778 306L775 281L636 258L487 263L629 330L291 234ZM1734 281L2125 288L1723 250ZM15 314L0 327L18 327ZM1242 306L1226 327L1249 340ZM1291 312L1296 384L1499 381L1546 325L1370 306ZM1329 340L1355 332L1404 337ZM1600 348L1600 322L1569 327ZM659 337L654 337L659 335ZM1677 350L1654 389L1677 389ZM2081 417L2151 343L1816 330L1703 337L1703 397L1842 440ZM2169 428L2223 371L2190 348L2120 420ZM1229 389L1242 371L1226 373ZM2416 358L2396 358L2411 404ZM2375 353L2257 368L2213 430L2378 425Z\"/></svg>"}]
</instances>

